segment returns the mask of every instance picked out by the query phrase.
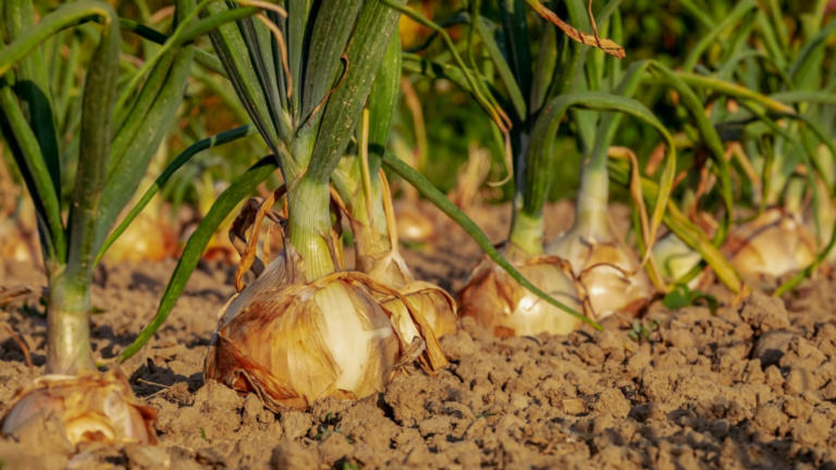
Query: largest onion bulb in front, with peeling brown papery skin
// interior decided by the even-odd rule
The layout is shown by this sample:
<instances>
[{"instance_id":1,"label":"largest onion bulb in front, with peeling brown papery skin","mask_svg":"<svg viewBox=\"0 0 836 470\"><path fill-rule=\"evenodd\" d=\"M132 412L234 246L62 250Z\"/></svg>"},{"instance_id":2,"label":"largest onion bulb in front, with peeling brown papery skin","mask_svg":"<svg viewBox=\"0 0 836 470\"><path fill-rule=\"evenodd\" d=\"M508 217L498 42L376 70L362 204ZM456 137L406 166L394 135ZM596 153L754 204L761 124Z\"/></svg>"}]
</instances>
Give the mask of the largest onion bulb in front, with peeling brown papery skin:
<instances>
[{"instance_id":1,"label":"largest onion bulb in front, with peeling brown papery skin","mask_svg":"<svg viewBox=\"0 0 836 470\"><path fill-rule=\"evenodd\" d=\"M446 366L431 327L408 309L421 339L403 336L372 292L393 289L356 272L305 283L293 245L219 313L204 376L256 393L272 410L318 398L362 398L382 391L407 363ZM402 297L403 301L403 297Z\"/></svg>"}]
</instances>

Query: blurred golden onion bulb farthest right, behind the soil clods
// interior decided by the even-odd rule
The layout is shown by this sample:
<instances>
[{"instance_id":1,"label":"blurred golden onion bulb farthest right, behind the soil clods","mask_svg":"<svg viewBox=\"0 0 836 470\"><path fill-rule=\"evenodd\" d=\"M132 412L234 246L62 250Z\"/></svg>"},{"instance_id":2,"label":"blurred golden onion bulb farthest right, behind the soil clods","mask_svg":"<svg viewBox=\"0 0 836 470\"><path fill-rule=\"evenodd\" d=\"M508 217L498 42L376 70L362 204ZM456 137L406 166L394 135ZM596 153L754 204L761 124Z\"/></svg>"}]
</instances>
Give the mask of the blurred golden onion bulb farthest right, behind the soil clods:
<instances>
[{"instance_id":1,"label":"blurred golden onion bulb farthest right, behind the soil clods","mask_svg":"<svg viewBox=\"0 0 836 470\"><path fill-rule=\"evenodd\" d=\"M771 208L728 235L725 252L745 279L780 277L809 267L816 257L815 240L798 214Z\"/></svg>"}]
</instances>

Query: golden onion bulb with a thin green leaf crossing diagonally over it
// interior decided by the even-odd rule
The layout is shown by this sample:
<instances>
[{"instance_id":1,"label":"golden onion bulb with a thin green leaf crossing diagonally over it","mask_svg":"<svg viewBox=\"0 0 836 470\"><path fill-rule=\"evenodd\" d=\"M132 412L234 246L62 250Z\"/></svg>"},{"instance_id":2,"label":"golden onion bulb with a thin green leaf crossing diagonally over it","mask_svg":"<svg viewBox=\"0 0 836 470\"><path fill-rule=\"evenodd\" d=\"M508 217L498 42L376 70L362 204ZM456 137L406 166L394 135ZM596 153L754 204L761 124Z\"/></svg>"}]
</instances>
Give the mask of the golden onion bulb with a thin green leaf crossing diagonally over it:
<instances>
[{"instance_id":1,"label":"golden onion bulb with a thin green leaf crossing diagonally over it","mask_svg":"<svg viewBox=\"0 0 836 470\"><path fill-rule=\"evenodd\" d=\"M581 310L575 283L560 260L539 257L514 262L514 267L541 290ZM474 318L496 337L568 334L580 326L580 320L540 299L489 258L477 265L459 292L458 314Z\"/></svg>"}]
</instances>

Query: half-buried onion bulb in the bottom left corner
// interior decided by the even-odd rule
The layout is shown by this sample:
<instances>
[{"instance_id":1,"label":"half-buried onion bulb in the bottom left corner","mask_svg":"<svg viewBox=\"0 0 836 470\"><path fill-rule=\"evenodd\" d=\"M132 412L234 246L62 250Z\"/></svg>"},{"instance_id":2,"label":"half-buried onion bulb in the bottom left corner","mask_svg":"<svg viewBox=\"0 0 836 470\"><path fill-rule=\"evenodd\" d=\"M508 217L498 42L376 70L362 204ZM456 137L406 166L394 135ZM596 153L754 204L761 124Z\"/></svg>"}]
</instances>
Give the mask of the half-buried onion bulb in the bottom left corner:
<instances>
[{"instance_id":1,"label":"half-buried onion bulb in the bottom left corner","mask_svg":"<svg viewBox=\"0 0 836 470\"><path fill-rule=\"evenodd\" d=\"M114 369L104 374L35 379L14 396L0 430L13 436L37 434L52 420L73 447L88 442L148 445L157 443L156 419L157 411L138 404L125 375Z\"/></svg>"}]
</instances>

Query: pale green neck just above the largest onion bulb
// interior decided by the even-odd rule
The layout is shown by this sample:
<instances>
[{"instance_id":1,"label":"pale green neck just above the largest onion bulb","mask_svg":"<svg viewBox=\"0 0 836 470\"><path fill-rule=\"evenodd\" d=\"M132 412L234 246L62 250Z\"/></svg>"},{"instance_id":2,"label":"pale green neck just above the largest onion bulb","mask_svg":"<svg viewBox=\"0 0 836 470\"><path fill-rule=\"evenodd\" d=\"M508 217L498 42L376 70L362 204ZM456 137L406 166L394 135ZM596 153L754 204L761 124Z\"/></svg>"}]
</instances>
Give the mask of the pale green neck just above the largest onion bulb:
<instances>
[{"instance_id":1,"label":"pale green neck just above the largest onion bulb","mask_svg":"<svg viewBox=\"0 0 836 470\"><path fill-rule=\"evenodd\" d=\"M287 237L305 261L308 283L333 273L331 239L331 193L328 182L303 177L287 194Z\"/></svg>"}]
</instances>

